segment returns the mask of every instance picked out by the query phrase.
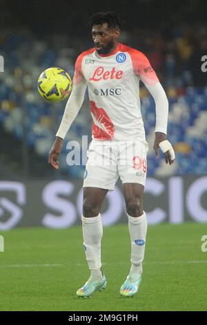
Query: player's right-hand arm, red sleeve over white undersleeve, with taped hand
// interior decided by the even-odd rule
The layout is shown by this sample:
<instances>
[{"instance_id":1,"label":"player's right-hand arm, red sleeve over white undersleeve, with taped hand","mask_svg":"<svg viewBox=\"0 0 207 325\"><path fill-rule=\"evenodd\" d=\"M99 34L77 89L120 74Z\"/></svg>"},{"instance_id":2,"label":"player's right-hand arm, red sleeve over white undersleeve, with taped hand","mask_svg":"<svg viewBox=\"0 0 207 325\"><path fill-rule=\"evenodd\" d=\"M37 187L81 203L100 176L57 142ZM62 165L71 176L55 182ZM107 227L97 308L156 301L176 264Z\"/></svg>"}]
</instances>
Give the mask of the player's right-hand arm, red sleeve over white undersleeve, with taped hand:
<instances>
[{"instance_id":1,"label":"player's right-hand arm, red sleeve over white undersleeve, with taped hand","mask_svg":"<svg viewBox=\"0 0 207 325\"><path fill-rule=\"evenodd\" d=\"M139 60L139 77L155 100L155 154L159 158L160 148L164 152L166 164L169 163L171 165L175 160L175 151L166 137L168 126L168 98L155 71L150 66L150 62L144 54L141 55L141 60Z\"/></svg>"}]
</instances>

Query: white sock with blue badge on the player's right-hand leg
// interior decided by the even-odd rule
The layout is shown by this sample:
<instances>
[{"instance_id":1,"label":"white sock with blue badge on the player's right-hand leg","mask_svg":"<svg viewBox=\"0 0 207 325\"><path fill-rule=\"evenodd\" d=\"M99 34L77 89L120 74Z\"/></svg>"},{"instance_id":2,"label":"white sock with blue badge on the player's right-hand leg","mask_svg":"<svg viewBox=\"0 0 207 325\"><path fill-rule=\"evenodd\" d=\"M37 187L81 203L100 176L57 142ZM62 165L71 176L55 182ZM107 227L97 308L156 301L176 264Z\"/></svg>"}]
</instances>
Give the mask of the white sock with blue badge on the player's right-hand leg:
<instances>
[{"instance_id":1,"label":"white sock with blue badge on the player's right-hand leg","mask_svg":"<svg viewBox=\"0 0 207 325\"><path fill-rule=\"evenodd\" d=\"M147 219L146 213L139 217L128 214L128 229L131 240L131 263L130 276L134 281L138 280L142 273L142 261L146 245Z\"/></svg>"}]
</instances>

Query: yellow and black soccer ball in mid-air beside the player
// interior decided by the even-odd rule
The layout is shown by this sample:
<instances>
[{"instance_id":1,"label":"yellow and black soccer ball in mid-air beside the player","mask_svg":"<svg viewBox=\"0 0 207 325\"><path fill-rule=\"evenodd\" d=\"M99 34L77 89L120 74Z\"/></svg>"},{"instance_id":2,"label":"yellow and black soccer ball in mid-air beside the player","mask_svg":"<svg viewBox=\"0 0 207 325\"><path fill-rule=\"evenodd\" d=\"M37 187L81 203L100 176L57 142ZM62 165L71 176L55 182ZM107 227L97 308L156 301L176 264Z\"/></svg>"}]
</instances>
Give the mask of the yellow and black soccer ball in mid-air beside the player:
<instances>
[{"instance_id":1,"label":"yellow and black soccer ball in mid-air beside the player","mask_svg":"<svg viewBox=\"0 0 207 325\"><path fill-rule=\"evenodd\" d=\"M38 78L37 89L41 97L57 102L68 97L72 91L70 75L61 68L48 68Z\"/></svg>"}]
</instances>

